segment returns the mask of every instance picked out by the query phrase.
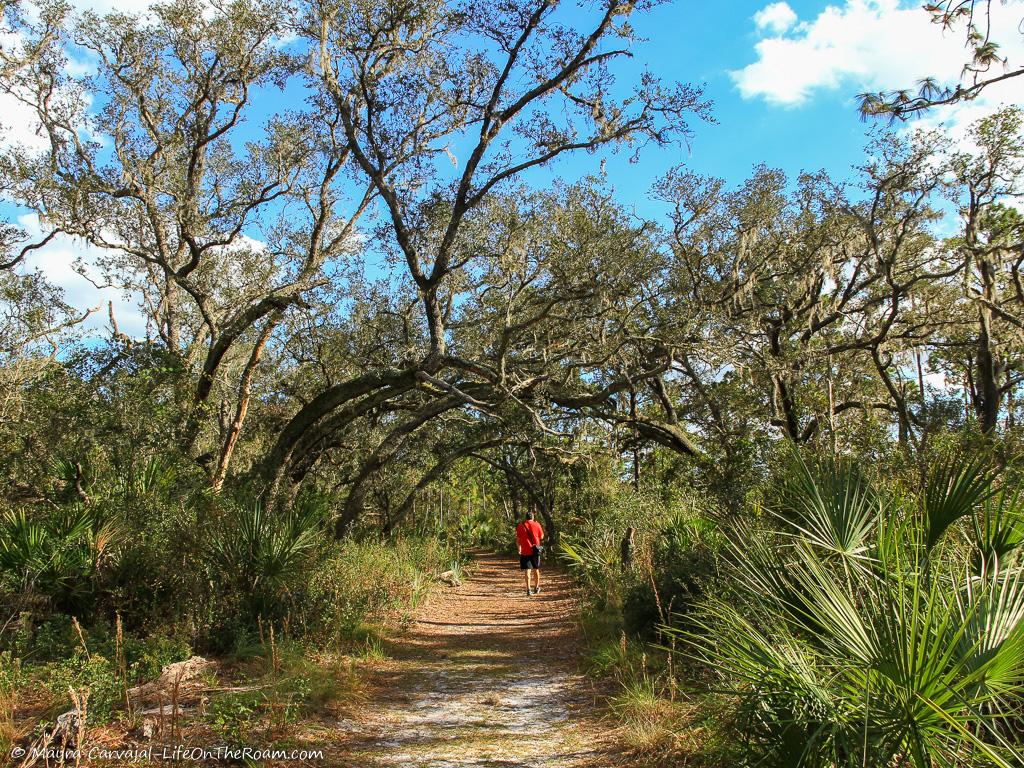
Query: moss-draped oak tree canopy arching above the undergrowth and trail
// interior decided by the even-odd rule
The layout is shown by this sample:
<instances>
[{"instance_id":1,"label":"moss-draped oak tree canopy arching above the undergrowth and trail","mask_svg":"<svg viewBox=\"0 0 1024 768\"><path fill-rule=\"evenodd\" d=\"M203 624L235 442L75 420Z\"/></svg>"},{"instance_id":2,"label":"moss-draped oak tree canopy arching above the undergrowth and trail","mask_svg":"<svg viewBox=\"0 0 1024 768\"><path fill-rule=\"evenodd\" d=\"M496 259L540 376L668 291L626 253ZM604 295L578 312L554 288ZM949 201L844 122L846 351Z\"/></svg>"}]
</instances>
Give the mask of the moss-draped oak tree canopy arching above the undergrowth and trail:
<instances>
[{"instance_id":1,"label":"moss-draped oak tree canopy arching above the undergrowth and trail","mask_svg":"<svg viewBox=\"0 0 1024 768\"><path fill-rule=\"evenodd\" d=\"M852 181L666 169L664 215L600 174L537 183L711 118L700 87L621 81L649 7L8 3L3 88L41 146L0 171L45 222L5 229L8 478L169 450L271 509L325 489L343 536L471 462L534 488L598 445L638 477L663 452L725 498L776 444L1012 430L1019 111L972 152L882 133ZM110 310L109 338L68 343L74 312L15 266L58 233L139 299L145 338ZM60 400L90 402L80 441L40 439Z\"/></svg>"}]
</instances>

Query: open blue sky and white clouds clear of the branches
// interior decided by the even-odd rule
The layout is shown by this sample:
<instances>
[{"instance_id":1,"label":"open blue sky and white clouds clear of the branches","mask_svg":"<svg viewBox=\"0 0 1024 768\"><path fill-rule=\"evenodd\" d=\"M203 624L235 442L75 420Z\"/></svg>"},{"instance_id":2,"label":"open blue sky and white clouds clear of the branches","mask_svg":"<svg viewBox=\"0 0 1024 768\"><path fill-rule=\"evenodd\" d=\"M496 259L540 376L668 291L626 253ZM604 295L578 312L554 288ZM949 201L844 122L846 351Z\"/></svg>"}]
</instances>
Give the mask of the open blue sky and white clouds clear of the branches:
<instances>
[{"instance_id":1,"label":"open blue sky and white clouds clear of the branches","mask_svg":"<svg viewBox=\"0 0 1024 768\"><path fill-rule=\"evenodd\" d=\"M79 0L79 7L144 10L147 0ZM571 0L566 3L569 13ZM1024 0L992 4L993 37L1010 66L1024 62ZM640 162L629 153L609 157L606 172L620 197L641 213L656 208L647 202L651 183L668 168L685 164L699 173L739 184L759 163L795 176L824 169L835 177L850 175L861 162L869 124L860 121L856 94L864 90L911 85L927 75L954 82L966 58L962 34L943 35L918 2L899 0L762 0L701 3L668 2L631 19L639 37L634 58L621 76L643 68L665 80L706 84L714 101L716 123L694 123L687 146L648 147ZM267 110L274 109L271 101ZM1024 77L986 91L969 104L929 113L914 125L943 126L954 135L975 119L1004 103L1024 103ZM261 105L262 106L262 105ZM0 141L32 140L25 119L0 99L0 115L10 130ZM581 155L541 172L567 180L596 173L599 158ZM31 223L31 222L29 222ZM144 323L130 298L116 289L96 289L73 269L76 258L94 263L96 254L81 243L58 240L34 254L40 268L61 286L79 307L114 300L122 328L141 335ZM103 318L97 315L96 327Z\"/></svg>"}]
</instances>

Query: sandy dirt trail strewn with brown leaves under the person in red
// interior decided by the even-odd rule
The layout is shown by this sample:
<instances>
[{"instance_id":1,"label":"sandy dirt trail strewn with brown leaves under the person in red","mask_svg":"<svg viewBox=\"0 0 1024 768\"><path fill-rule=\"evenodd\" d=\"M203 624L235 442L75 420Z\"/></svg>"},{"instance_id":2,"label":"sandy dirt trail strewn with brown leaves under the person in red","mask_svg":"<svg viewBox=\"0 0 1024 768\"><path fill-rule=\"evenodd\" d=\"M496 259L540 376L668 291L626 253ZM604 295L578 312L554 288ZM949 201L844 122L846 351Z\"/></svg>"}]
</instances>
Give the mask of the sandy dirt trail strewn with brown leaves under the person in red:
<instances>
[{"instance_id":1,"label":"sandy dirt trail strewn with brown leaves under the person in red","mask_svg":"<svg viewBox=\"0 0 1024 768\"><path fill-rule=\"evenodd\" d=\"M571 583L542 570L527 597L518 563L481 554L389 646L346 756L358 768L613 766L607 724L577 670Z\"/></svg>"}]
</instances>

